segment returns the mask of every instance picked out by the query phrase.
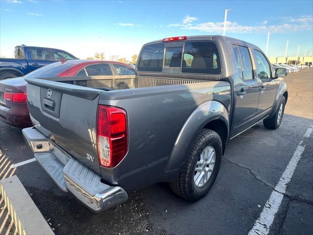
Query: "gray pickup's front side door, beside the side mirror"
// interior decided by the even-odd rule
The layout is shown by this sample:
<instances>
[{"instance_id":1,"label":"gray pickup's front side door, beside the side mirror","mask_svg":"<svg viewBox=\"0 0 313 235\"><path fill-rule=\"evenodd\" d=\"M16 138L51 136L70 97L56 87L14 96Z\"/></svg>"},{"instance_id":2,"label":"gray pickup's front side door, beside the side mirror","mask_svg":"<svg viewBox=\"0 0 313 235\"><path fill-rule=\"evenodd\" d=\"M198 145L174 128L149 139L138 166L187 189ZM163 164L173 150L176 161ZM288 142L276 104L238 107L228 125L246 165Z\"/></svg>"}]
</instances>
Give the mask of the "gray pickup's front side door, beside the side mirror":
<instances>
[{"instance_id":1,"label":"gray pickup's front side door, beside the side mirror","mask_svg":"<svg viewBox=\"0 0 313 235\"><path fill-rule=\"evenodd\" d=\"M256 49L253 50L253 54L257 67L257 74L262 82L257 113L261 116L266 116L271 110L276 97L276 79L274 78L274 74L272 74L271 67L265 55Z\"/></svg>"}]
</instances>

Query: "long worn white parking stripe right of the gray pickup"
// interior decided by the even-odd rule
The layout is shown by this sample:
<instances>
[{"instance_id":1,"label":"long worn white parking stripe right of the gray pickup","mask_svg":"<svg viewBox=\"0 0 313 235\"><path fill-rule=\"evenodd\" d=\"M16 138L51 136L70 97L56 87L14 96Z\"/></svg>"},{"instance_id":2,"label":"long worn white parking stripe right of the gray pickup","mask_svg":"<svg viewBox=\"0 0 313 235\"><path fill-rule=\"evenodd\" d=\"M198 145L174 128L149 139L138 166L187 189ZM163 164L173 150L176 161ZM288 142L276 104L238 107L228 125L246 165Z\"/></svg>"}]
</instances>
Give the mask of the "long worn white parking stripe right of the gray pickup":
<instances>
[{"instance_id":1,"label":"long worn white parking stripe right of the gray pickup","mask_svg":"<svg viewBox=\"0 0 313 235\"><path fill-rule=\"evenodd\" d=\"M275 189L270 194L268 201L266 202L260 217L254 222L253 228L249 231L249 235L267 235L269 228L273 223L275 214L277 213L279 206L283 200L284 193L286 192L287 185L291 181L293 172L302 156L305 149L303 144L305 138L309 138L312 134L313 128L309 127L302 140L298 144L293 156L287 165L283 175L280 177Z\"/></svg>"}]
</instances>

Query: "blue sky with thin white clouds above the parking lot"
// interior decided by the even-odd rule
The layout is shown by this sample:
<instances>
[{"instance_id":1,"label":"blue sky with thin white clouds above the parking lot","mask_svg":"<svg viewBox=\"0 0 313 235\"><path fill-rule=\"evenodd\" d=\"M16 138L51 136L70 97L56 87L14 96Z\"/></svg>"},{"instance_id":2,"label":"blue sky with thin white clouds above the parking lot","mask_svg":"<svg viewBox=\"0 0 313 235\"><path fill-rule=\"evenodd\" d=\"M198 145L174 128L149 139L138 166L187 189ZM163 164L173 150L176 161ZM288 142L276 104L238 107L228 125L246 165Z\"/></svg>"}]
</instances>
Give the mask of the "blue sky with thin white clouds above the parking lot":
<instances>
[{"instance_id":1,"label":"blue sky with thin white clouds above the parking lot","mask_svg":"<svg viewBox=\"0 0 313 235\"><path fill-rule=\"evenodd\" d=\"M268 55L313 51L313 1L84 1L1 0L0 55L16 45L55 47L85 59L97 51L128 57L149 41L170 36L216 35L253 43Z\"/></svg>"}]
</instances>

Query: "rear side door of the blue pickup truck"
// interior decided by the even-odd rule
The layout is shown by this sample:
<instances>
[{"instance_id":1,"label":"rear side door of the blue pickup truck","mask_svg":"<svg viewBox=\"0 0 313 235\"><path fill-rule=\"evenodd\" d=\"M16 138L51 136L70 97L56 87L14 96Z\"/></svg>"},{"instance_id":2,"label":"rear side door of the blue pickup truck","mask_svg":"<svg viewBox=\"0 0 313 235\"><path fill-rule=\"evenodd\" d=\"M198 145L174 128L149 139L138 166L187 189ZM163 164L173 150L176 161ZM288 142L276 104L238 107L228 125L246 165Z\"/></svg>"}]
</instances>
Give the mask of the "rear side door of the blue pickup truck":
<instances>
[{"instance_id":1,"label":"rear side door of the blue pickup truck","mask_svg":"<svg viewBox=\"0 0 313 235\"><path fill-rule=\"evenodd\" d=\"M28 61L29 71L37 70L55 61L52 57L51 50L48 48L30 47L29 53L31 56L31 60Z\"/></svg>"}]
</instances>

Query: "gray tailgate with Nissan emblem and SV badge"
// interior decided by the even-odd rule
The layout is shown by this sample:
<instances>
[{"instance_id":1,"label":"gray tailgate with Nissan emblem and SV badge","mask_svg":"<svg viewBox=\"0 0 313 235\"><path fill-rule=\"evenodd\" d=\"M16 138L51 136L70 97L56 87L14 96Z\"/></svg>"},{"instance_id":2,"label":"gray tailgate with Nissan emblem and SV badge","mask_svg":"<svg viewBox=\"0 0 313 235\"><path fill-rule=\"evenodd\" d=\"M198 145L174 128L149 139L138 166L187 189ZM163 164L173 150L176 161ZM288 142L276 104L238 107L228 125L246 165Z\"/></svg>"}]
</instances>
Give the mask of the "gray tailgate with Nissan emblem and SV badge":
<instances>
[{"instance_id":1,"label":"gray tailgate with Nissan emblem and SV badge","mask_svg":"<svg viewBox=\"0 0 313 235\"><path fill-rule=\"evenodd\" d=\"M42 79L27 81L27 105L35 127L69 155L100 174L97 89Z\"/></svg>"}]
</instances>

